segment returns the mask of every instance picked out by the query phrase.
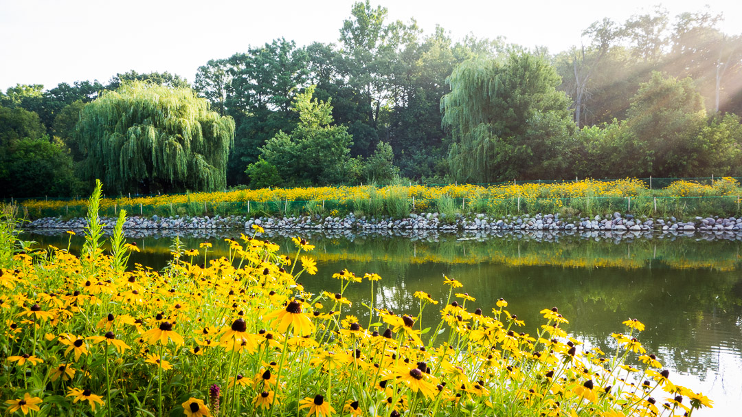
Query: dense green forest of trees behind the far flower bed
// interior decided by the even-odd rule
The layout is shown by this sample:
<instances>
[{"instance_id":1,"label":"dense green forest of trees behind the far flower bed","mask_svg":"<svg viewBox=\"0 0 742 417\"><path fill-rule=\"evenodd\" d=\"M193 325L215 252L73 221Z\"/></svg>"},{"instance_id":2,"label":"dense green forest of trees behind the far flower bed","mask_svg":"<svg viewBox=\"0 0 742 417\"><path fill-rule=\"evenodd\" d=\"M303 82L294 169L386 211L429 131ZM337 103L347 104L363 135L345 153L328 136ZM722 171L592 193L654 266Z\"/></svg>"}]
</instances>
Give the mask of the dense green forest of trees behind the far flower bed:
<instances>
[{"instance_id":1,"label":"dense green forest of trees behind the far flower bed","mask_svg":"<svg viewBox=\"0 0 742 417\"><path fill-rule=\"evenodd\" d=\"M395 177L742 175L742 36L719 30L722 18L658 7L594 22L580 45L548 51L502 38L454 40L442 27L424 33L414 19L391 21L365 1L338 22L337 43L246 45L205 62L192 85L134 70L105 84L16 85L0 92L0 179L14 183L0 194L75 194L102 176L111 191L148 193ZM191 150L197 159L185 163L177 149L191 152L189 140L208 136L203 125L153 136L131 130L153 123L145 116L111 119L111 99L131 85L171 97L157 105L196 105L223 134L234 123L231 151L232 139L217 135L204 139L214 154ZM104 108L108 119L95 116ZM329 122L307 125L312 112ZM152 162L125 161L124 140ZM22 175L31 164L47 180Z\"/></svg>"}]
</instances>

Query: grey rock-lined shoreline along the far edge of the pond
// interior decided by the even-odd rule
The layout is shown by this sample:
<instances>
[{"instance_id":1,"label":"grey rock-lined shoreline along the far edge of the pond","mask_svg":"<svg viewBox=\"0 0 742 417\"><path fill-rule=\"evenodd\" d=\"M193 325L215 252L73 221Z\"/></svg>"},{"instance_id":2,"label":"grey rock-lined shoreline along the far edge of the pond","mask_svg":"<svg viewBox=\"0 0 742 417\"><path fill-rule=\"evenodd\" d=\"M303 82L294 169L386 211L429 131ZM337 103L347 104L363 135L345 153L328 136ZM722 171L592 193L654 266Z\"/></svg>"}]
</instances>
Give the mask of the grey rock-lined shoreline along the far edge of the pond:
<instances>
[{"instance_id":1,"label":"grey rock-lined shoreline along the far edge of the pond","mask_svg":"<svg viewBox=\"0 0 742 417\"><path fill-rule=\"evenodd\" d=\"M115 218L101 217L106 230L113 229ZM450 222L450 223L449 223ZM631 214L615 212L612 216L595 216L592 218L573 217L562 220L559 214L536 214L529 216L502 216L499 218L476 214L464 217L457 214L454 219L446 221L439 213L410 214L403 219L355 217L128 217L124 230L128 237L146 237L151 235L176 236L181 234L201 234L205 237L223 234L224 232L248 232L252 226L260 226L268 235L272 234L324 234L370 235L370 236L427 236L437 234L462 234L465 238L485 238L510 234L520 234L542 238L545 236L580 235L603 239L653 238L697 236L721 238L725 240L742 240L742 219L735 217L695 217L693 220L680 221L635 218ZM82 230L87 226L85 218L78 217L61 220L55 217L25 222L22 229L40 232L49 231L56 234L61 230Z\"/></svg>"}]
</instances>

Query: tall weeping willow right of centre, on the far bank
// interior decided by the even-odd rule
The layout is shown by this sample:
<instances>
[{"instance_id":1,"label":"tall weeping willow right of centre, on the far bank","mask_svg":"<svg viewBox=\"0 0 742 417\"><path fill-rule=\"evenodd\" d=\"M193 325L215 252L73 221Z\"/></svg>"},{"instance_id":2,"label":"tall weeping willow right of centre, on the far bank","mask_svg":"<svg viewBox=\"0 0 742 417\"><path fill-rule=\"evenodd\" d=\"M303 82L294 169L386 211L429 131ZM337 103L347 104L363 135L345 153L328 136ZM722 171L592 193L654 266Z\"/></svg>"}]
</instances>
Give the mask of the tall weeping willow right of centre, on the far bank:
<instances>
[{"instance_id":1,"label":"tall weeping willow right of centre, on the far bank","mask_svg":"<svg viewBox=\"0 0 742 417\"><path fill-rule=\"evenodd\" d=\"M451 174L461 182L559 176L562 142L574 131L561 77L539 56L472 59L447 78L441 99L453 137Z\"/></svg>"}]
</instances>

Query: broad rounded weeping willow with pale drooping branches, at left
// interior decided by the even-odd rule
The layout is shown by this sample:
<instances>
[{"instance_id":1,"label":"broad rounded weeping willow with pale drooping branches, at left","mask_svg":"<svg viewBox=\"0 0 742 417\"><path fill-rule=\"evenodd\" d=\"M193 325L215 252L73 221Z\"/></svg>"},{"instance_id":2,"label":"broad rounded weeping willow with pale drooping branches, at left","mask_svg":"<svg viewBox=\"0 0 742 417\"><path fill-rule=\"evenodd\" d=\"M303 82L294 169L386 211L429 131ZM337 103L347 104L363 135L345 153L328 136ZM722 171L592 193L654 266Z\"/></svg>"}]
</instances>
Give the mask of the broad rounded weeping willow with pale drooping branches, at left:
<instances>
[{"instance_id":1,"label":"broad rounded weeping willow with pale drooping branches, at left","mask_svg":"<svg viewBox=\"0 0 742 417\"><path fill-rule=\"evenodd\" d=\"M234 120L190 88L125 82L85 106L75 134L83 177L102 179L109 192L226 186Z\"/></svg>"}]
</instances>

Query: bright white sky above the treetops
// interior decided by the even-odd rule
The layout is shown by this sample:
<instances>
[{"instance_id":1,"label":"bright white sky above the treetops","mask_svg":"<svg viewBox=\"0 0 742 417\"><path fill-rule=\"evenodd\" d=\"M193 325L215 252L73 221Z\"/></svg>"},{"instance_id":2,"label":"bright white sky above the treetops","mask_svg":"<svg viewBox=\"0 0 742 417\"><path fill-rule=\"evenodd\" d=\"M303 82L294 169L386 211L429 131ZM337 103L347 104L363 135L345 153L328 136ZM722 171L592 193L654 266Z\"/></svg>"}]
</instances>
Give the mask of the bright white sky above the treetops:
<instances>
[{"instance_id":1,"label":"bright white sky above the treetops","mask_svg":"<svg viewBox=\"0 0 742 417\"><path fill-rule=\"evenodd\" d=\"M0 0L0 89L98 79L116 73L169 71L193 82L209 59L244 52L281 36L298 45L337 42L351 0ZM742 1L668 0L674 16L709 4L723 12L726 33L742 32ZM625 21L648 12L646 0L374 0L392 20L415 18L425 33L436 24L454 40L467 33L505 36L552 53L580 44L592 22Z\"/></svg>"}]
</instances>

